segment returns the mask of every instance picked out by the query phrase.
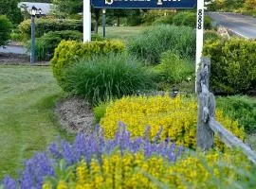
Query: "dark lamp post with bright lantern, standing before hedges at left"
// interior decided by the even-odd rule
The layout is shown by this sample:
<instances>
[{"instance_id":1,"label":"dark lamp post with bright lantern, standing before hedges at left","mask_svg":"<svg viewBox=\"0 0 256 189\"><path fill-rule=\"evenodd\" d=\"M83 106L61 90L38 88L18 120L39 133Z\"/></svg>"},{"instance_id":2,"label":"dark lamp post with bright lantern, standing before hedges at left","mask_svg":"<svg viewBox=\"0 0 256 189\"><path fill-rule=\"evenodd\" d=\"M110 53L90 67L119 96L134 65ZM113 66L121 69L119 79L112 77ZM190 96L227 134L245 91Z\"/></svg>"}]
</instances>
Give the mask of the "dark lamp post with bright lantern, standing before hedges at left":
<instances>
[{"instance_id":1,"label":"dark lamp post with bright lantern, standing before hedges at left","mask_svg":"<svg viewBox=\"0 0 256 189\"><path fill-rule=\"evenodd\" d=\"M30 63L35 62L35 16L37 9L33 6L30 10L31 15L31 52L30 52Z\"/></svg>"}]
</instances>

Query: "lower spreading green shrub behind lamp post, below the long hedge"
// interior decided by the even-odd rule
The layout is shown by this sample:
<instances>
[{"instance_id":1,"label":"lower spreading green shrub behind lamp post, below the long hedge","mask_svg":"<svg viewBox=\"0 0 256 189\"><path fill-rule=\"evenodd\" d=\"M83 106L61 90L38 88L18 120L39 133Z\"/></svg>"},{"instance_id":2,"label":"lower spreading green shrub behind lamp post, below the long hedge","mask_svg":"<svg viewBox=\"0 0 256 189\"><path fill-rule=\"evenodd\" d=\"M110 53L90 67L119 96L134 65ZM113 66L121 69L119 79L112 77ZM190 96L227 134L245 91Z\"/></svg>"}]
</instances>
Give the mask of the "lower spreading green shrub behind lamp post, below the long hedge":
<instances>
[{"instance_id":1,"label":"lower spreading green shrub behind lamp post, below the long hedge","mask_svg":"<svg viewBox=\"0 0 256 189\"><path fill-rule=\"evenodd\" d=\"M50 31L41 38L36 39L36 59L50 60L53 57L54 49L63 40L82 41L82 33L80 31L64 30ZM31 41L27 41L27 51L31 48Z\"/></svg>"}]
</instances>

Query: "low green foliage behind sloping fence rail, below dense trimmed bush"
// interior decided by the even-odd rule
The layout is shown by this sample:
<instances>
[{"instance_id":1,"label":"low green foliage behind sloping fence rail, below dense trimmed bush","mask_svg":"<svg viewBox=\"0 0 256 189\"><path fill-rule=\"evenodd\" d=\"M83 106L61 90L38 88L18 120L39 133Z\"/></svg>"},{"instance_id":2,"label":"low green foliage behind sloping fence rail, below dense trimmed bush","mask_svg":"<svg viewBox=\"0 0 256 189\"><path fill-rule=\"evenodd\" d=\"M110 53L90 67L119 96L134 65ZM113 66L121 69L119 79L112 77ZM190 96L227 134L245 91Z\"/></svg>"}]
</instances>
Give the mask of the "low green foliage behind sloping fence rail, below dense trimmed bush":
<instances>
[{"instance_id":1,"label":"low green foliage behind sloping fence rail, below dense trimmed bush","mask_svg":"<svg viewBox=\"0 0 256 189\"><path fill-rule=\"evenodd\" d=\"M219 97L217 106L233 120L238 120L247 133L256 132L256 100L247 96Z\"/></svg>"}]
</instances>

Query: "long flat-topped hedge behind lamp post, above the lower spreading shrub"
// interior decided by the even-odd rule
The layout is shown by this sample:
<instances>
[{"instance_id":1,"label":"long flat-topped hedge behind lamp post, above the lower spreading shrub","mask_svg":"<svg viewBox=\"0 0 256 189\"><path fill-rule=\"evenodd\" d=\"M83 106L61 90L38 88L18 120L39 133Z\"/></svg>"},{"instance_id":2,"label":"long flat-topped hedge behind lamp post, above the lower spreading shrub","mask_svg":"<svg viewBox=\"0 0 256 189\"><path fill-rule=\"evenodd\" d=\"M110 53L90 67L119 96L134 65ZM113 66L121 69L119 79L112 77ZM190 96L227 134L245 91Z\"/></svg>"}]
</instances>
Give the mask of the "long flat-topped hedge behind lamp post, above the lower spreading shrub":
<instances>
[{"instance_id":1,"label":"long flat-topped hedge behind lamp post, above the lower spreading shrub","mask_svg":"<svg viewBox=\"0 0 256 189\"><path fill-rule=\"evenodd\" d=\"M22 22L19 30L27 41L31 35L30 20ZM82 20L67 19L36 19L35 21L36 37L41 37L50 31L77 30L82 32Z\"/></svg>"}]
</instances>

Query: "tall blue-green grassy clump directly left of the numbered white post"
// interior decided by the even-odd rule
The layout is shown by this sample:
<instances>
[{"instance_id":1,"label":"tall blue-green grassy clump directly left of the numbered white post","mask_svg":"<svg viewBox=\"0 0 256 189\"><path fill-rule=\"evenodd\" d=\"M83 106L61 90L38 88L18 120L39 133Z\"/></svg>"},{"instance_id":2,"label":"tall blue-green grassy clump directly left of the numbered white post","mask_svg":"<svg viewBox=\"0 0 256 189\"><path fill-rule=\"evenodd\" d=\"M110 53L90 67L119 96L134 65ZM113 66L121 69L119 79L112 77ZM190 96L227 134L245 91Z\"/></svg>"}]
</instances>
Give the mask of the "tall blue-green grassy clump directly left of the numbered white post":
<instances>
[{"instance_id":1,"label":"tall blue-green grassy clump directly left of the numbered white post","mask_svg":"<svg viewBox=\"0 0 256 189\"><path fill-rule=\"evenodd\" d=\"M160 55L174 50L184 59L194 59L195 31L188 26L152 26L128 43L128 51L138 58L158 63Z\"/></svg>"}]
</instances>

